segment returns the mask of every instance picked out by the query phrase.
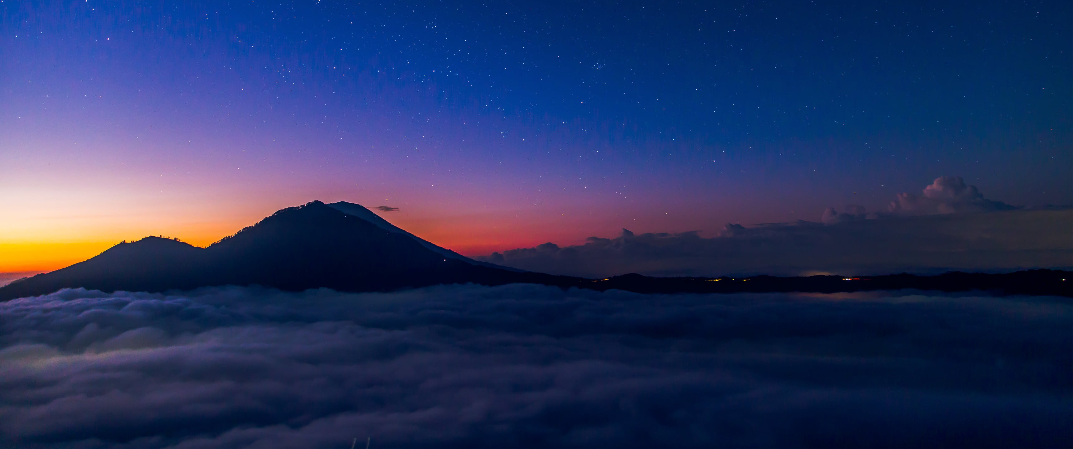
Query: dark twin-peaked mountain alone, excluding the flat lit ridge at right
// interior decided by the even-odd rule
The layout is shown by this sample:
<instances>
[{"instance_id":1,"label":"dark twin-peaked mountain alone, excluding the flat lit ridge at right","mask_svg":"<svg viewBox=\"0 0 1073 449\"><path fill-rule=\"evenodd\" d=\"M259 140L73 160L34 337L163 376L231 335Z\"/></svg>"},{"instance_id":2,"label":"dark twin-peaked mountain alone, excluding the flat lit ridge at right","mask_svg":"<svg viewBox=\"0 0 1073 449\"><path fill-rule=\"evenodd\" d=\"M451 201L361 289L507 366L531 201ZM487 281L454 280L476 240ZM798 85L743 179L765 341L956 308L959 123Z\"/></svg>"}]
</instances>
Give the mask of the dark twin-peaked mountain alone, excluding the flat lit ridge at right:
<instances>
[{"instance_id":1,"label":"dark twin-peaked mountain alone, excluding the flat lit ridge at right","mask_svg":"<svg viewBox=\"0 0 1073 449\"><path fill-rule=\"evenodd\" d=\"M204 249L157 237L119 243L89 260L0 287L0 300L63 287L164 291L263 285L284 290L382 291L444 283L567 286L580 281L497 268L456 253L447 257L442 252L449 250L351 209L343 212L321 201L282 209Z\"/></svg>"}]
</instances>

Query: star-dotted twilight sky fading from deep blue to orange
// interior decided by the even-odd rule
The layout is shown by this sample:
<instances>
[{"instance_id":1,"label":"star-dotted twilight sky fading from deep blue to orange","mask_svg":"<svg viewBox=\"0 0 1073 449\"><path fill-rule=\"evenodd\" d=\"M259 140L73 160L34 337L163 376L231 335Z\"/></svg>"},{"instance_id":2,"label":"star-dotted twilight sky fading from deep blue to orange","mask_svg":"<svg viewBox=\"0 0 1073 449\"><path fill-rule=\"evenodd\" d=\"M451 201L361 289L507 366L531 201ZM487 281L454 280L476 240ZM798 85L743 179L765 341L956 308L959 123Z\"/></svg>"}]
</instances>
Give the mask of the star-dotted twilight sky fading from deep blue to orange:
<instances>
[{"instance_id":1,"label":"star-dotted twilight sky fading from deep blue to orange","mask_svg":"<svg viewBox=\"0 0 1073 449\"><path fill-rule=\"evenodd\" d=\"M960 176L1073 203L1073 9L0 2L0 271L312 199L466 255L818 221Z\"/></svg>"}]
</instances>

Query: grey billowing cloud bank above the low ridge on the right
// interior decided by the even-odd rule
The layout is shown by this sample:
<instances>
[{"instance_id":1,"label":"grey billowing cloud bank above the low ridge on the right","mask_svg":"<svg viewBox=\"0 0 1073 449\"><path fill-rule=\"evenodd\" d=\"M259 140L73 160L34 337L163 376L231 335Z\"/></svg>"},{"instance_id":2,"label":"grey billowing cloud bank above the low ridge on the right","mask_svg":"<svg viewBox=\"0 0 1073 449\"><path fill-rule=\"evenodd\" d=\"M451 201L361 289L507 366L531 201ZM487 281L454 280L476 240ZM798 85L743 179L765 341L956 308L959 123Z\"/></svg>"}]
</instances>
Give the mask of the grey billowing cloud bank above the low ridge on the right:
<instances>
[{"instance_id":1,"label":"grey billowing cloud bank above the low ridge on the right","mask_svg":"<svg viewBox=\"0 0 1073 449\"><path fill-rule=\"evenodd\" d=\"M622 229L616 238L590 237L579 245L548 242L476 258L586 278L1070 269L1070 229L1071 209L1017 209L984 198L961 178L942 177L920 195L899 194L882 213L827 208L820 223L726 224L714 238Z\"/></svg>"}]
</instances>

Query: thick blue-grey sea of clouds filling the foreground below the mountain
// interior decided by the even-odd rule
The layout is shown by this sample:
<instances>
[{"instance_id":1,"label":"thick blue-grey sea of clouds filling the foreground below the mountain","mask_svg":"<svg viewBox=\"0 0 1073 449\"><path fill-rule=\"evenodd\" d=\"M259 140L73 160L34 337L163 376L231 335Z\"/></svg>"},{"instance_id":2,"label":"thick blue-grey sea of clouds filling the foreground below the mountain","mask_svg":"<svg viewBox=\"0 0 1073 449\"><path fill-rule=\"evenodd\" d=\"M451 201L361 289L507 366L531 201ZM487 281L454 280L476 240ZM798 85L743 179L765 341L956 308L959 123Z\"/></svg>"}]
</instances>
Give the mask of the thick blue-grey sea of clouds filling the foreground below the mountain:
<instances>
[{"instance_id":1,"label":"thick blue-grey sea of clouds filling the foreground below the mountain","mask_svg":"<svg viewBox=\"0 0 1073 449\"><path fill-rule=\"evenodd\" d=\"M1069 447L1052 297L84 289L0 303L4 447Z\"/></svg>"}]
</instances>

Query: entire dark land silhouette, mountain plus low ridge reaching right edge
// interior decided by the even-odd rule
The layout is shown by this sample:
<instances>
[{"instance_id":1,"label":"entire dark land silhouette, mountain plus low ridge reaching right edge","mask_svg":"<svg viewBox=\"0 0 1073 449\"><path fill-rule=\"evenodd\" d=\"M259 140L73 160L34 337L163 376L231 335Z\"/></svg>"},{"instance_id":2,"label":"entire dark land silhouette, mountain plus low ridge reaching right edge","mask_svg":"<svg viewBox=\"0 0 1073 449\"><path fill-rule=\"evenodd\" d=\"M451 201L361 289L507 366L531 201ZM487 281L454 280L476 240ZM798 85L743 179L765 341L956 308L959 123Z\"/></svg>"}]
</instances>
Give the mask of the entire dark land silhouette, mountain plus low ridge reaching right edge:
<instances>
[{"instance_id":1,"label":"entire dark land silhouette, mountain plus low ridge reaching right edge","mask_svg":"<svg viewBox=\"0 0 1073 449\"><path fill-rule=\"evenodd\" d=\"M1073 297L1073 272L1060 270L859 279L624 274L591 280L552 275L470 259L425 241L361 205L311 201L279 210L208 248L159 237L119 243L86 261L0 287L0 300L45 295L69 287L167 291L217 285L261 285L283 290L326 287L342 291L388 291L462 283L533 283L636 293L837 293L918 288Z\"/></svg>"}]
</instances>

